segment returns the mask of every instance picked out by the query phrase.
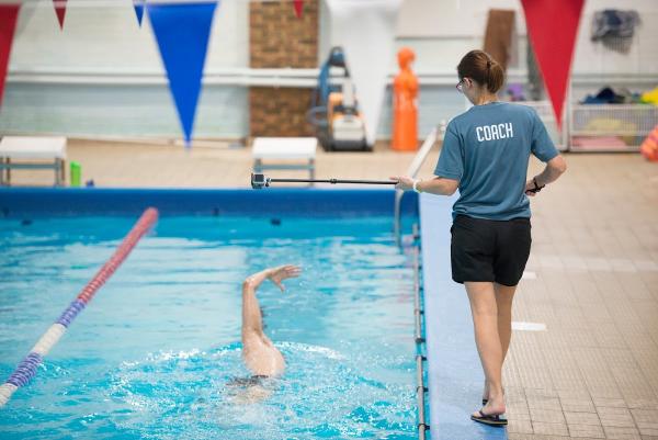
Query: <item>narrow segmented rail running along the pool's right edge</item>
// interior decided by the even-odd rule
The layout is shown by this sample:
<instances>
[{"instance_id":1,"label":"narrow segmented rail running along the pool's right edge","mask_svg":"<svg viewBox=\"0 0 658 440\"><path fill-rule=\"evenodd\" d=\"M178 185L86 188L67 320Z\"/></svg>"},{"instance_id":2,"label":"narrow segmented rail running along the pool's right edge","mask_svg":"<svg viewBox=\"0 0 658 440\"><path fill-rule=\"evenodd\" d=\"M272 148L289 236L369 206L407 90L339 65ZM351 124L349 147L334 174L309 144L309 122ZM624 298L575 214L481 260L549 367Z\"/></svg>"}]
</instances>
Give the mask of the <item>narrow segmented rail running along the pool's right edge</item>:
<instances>
[{"instance_id":1,"label":"narrow segmented rail running along the pool's right edge","mask_svg":"<svg viewBox=\"0 0 658 440\"><path fill-rule=\"evenodd\" d=\"M428 387L424 383L423 361L427 360L422 356L422 345L426 339L422 334L422 303L420 301L420 246L418 240L420 233L418 225L413 225L413 240L417 241L412 248L412 264L413 264L413 317L415 317L415 340L417 346L416 353L416 399L418 404L418 438L426 440L426 431L430 429L426 419L426 393Z\"/></svg>"}]
</instances>

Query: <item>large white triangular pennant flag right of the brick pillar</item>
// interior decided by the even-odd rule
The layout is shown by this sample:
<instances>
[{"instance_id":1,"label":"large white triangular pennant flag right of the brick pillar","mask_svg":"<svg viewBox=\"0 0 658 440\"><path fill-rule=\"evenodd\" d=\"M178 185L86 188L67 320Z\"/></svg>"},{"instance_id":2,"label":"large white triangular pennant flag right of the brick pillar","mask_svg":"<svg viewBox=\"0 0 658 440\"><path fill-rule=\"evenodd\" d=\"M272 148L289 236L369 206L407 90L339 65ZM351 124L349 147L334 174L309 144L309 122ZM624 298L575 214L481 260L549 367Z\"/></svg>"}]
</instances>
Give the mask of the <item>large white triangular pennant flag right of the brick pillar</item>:
<instances>
[{"instance_id":1,"label":"large white triangular pennant flag right of the brick pillar","mask_svg":"<svg viewBox=\"0 0 658 440\"><path fill-rule=\"evenodd\" d=\"M395 56L395 25L402 0L328 0L336 35L354 82L365 137L373 146Z\"/></svg>"}]
</instances>

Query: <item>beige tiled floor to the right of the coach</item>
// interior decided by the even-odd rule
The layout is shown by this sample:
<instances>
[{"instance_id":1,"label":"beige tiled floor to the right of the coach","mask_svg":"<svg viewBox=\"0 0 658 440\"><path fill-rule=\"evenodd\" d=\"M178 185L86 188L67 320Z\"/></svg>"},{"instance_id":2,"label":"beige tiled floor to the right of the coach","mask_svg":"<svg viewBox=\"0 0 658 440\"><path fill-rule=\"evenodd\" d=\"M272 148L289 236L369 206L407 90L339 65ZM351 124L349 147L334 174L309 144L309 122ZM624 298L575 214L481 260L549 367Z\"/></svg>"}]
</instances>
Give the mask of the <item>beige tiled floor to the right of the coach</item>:
<instances>
[{"instance_id":1,"label":"beige tiled floor to the right of the coach","mask_svg":"<svg viewBox=\"0 0 658 440\"><path fill-rule=\"evenodd\" d=\"M533 201L506 365L510 439L658 439L658 165L569 155ZM532 167L534 168L534 167Z\"/></svg>"}]
</instances>

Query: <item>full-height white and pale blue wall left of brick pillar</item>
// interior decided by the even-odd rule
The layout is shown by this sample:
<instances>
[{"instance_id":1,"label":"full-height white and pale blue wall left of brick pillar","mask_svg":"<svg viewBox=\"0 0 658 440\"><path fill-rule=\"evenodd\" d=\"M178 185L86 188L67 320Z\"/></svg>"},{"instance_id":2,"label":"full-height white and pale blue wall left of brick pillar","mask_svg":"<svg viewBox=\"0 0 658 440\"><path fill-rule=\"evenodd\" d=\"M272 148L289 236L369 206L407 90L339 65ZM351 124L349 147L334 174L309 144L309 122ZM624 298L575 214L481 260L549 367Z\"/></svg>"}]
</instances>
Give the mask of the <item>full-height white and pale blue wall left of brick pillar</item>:
<instances>
[{"instance_id":1,"label":"full-height white and pale blue wall left of brick pillar","mask_svg":"<svg viewBox=\"0 0 658 440\"><path fill-rule=\"evenodd\" d=\"M180 137L181 128L152 30L137 23L131 0L90 7L69 0L64 32L49 1L25 3L19 16L0 133L61 133L91 137ZM249 64L248 7L217 8L206 78ZM196 137L248 133L243 87L206 84Z\"/></svg>"}]
</instances>

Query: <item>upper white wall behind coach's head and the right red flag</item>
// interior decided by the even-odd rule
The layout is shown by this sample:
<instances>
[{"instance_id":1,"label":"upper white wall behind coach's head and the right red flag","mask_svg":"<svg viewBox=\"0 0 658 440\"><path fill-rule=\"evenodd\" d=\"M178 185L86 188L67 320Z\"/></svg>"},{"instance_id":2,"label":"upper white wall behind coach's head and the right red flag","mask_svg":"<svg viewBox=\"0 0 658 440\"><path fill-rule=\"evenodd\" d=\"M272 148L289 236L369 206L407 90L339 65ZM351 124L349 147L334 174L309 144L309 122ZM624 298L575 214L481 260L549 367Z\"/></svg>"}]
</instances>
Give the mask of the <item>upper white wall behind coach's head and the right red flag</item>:
<instances>
[{"instance_id":1,"label":"upper white wall behind coach's head and the right red flag","mask_svg":"<svg viewBox=\"0 0 658 440\"><path fill-rule=\"evenodd\" d=\"M526 30L519 0L406 0L398 21L398 38L418 47L418 70L454 72L465 52L483 46L489 9L511 9L517 12L517 31L521 40L519 49L523 55ZM620 55L590 42L592 14L603 9L634 9L643 15L644 23L637 29L629 54ZM587 0L577 40L574 74L656 75L657 19L656 0ZM555 25L556 32L559 32L559 23ZM524 61L524 58L520 58L520 61ZM524 64L519 63L519 67L523 70Z\"/></svg>"}]
</instances>

